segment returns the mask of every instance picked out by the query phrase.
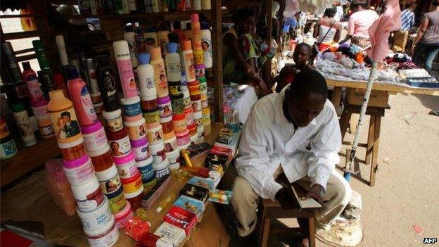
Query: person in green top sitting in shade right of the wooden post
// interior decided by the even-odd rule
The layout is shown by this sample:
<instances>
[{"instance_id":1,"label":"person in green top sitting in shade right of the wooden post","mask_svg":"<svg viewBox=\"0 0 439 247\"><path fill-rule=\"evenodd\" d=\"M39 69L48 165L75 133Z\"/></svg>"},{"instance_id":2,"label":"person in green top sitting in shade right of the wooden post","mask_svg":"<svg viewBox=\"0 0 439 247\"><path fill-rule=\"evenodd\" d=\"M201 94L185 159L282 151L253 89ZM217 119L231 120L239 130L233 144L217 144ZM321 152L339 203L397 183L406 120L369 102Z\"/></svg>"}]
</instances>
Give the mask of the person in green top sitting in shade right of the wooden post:
<instances>
[{"instance_id":1,"label":"person in green top sitting in shade right of the wooden post","mask_svg":"<svg viewBox=\"0 0 439 247\"><path fill-rule=\"evenodd\" d=\"M259 74L267 59L261 56L252 36L253 12L245 8L238 10L234 23L235 28L231 28L222 37L224 82L250 84L260 89L262 95L269 94L267 84Z\"/></svg>"}]
</instances>

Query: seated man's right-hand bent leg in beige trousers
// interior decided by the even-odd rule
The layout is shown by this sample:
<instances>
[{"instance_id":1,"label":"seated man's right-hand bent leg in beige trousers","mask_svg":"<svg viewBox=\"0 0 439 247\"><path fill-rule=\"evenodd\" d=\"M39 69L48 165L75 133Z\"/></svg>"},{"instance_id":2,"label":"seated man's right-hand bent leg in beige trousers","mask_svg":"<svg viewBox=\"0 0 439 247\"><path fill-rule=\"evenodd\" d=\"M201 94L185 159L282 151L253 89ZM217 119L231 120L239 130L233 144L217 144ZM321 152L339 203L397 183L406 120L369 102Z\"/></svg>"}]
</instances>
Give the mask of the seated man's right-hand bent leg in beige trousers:
<instances>
[{"instance_id":1,"label":"seated man's right-hand bent leg in beige trousers","mask_svg":"<svg viewBox=\"0 0 439 247\"><path fill-rule=\"evenodd\" d=\"M298 181L298 184L304 189L310 189L310 178L304 177ZM341 215L345 206L350 201L352 189L346 182L346 179L337 171L333 171L326 184L326 194L323 196L324 208L318 210L316 218L316 226L319 229L329 229L336 217Z\"/></svg>"}]
</instances>

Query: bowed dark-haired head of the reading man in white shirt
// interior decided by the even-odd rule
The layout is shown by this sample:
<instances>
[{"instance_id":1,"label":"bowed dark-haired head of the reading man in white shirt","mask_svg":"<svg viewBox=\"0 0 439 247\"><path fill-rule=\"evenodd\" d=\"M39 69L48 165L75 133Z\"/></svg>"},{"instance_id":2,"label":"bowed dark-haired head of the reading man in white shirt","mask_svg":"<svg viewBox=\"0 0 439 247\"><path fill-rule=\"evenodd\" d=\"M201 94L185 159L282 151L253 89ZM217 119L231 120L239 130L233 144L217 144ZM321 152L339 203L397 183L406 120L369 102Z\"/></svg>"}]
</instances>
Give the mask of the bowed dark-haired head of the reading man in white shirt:
<instances>
[{"instance_id":1,"label":"bowed dark-haired head of the reading man in white shirt","mask_svg":"<svg viewBox=\"0 0 439 247\"><path fill-rule=\"evenodd\" d=\"M309 125L323 110L327 94L326 81L319 72L311 68L301 70L285 91L287 118L298 127Z\"/></svg>"}]
</instances>

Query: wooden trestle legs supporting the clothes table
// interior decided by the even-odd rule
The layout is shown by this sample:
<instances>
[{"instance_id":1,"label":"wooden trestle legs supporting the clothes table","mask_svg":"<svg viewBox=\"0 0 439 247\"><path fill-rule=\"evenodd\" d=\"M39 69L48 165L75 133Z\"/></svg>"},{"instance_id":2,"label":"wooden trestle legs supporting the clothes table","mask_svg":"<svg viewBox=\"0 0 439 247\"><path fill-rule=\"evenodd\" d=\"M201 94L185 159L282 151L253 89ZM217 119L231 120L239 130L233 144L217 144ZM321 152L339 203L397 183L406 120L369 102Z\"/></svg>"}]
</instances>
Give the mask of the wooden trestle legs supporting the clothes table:
<instances>
[{"instance_id":1,"label":"wooden trestle legs supporting the clothes table","mask_svg":"<svg viewBox=\"0 0 439 247\"><path fill-rule=\"evenodd\" d=\"M366 149L366 163L371 165L369 185L375 186L375 175L378 169L378 146L379 146L379 134L381 128L381 117L384 116L384 111L390 109L390 106L386 107L367 107L366 115L370 115L369 120L369 134L367 136L367 149ZM352 113L360 113L361 106L346 105L340 118L341 139L343 140L346 132L348 131L350 117ZM348 158L348 157L346 157Z\"/></svg>"}]
</instances>

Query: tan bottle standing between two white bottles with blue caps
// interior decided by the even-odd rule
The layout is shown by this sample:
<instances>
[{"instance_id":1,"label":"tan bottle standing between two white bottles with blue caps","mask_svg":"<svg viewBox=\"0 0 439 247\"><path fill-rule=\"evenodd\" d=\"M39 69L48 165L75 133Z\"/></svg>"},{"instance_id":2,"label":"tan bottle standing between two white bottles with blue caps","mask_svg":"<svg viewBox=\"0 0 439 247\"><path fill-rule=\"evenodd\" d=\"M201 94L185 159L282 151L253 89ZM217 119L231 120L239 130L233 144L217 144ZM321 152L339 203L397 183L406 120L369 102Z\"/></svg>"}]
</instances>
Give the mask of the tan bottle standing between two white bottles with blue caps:
<instances>
[{"instance_id":1,"label":"tan bottle standing between two white bottles with blue caps","mask_svg":"<svg viewBox=\"0 0 439 247\"><path fill-rule=\"evenodd\" d=\"M157 89L157 96L165 97L169 95L165 73L165 61L163 61L160 47L154 47L149 51L151 53L151 65L153 65L154 68L154 82L155 88Z\"/></svg>"}]
</instances>

